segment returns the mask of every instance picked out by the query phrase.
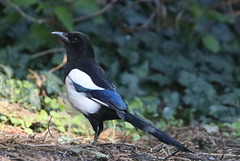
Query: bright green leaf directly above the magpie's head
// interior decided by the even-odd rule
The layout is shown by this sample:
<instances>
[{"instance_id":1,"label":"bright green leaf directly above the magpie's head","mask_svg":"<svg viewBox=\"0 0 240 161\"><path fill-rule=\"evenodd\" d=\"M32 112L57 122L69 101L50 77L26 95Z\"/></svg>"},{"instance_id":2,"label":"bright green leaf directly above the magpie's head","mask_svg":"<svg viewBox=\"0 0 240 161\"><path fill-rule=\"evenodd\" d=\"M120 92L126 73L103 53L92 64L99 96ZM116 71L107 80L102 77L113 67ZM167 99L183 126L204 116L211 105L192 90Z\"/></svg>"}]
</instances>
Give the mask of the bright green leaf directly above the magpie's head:
<instances>
[{"instance_id":1,"label":"bright green leaf directly above the magpie's head","mask_svg":"<svg viewBox=\"0 0 240 161\"><path fill-rule=\"evenodd\" d=\"M63 6L56 6L54 10L58 19L62 22L62 24L66 27L66 29L68 31L73 31L73 21L72 21L71 11L68 8Z\"/></svg>"}]
</instances>

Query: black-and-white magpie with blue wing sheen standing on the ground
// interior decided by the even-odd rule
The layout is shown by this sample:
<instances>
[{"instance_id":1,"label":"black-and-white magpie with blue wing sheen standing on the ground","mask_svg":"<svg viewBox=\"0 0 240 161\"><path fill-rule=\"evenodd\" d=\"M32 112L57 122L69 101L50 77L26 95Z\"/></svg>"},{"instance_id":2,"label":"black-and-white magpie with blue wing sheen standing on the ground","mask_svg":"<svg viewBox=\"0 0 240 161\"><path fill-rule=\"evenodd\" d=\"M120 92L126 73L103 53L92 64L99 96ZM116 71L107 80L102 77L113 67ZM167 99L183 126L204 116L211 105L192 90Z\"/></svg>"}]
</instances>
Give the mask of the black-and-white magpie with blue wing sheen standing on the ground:
<instances>
[{"instance_id":1,"label":"black-and-white magpie with blue wing sheen standing on the ground","mask_svg":"<svg viewBox=\"0 0 240 161\"><path fill-rule=\"evenodd\" d=\"M56 31L51 34L64 42L67 52L64 68L67 98L90 121L95 131L94 144L103 131L104 121L122 119L166 144L192 152L167 133L130 113L108 75L96 63L93 47L85 34L77 31Z\"/></svg>"}]
</instances>

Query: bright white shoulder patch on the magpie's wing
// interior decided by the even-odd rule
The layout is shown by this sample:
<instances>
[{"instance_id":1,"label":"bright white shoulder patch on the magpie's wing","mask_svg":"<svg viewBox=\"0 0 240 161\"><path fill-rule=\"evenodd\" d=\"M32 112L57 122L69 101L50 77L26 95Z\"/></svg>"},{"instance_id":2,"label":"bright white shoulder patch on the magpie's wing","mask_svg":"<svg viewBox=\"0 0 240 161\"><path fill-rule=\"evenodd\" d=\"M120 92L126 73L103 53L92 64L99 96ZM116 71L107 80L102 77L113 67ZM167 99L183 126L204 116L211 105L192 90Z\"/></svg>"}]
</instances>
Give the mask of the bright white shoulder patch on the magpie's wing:
<instances>
[{"instance_id":1,"label":"bright white shoulder patch on the magpie's wing","mask_svg":"<svg viewBox=\"0 0 240 161\"><path fill-rule=\"evenodd\" d=\"M68 77L70 77L72 81L79 84L83 88L87 88L91 90L104 90L104 88L94 84L91 77L79 69L71 70L70 73L68 74Z\"/></svg>"}]
</instances>

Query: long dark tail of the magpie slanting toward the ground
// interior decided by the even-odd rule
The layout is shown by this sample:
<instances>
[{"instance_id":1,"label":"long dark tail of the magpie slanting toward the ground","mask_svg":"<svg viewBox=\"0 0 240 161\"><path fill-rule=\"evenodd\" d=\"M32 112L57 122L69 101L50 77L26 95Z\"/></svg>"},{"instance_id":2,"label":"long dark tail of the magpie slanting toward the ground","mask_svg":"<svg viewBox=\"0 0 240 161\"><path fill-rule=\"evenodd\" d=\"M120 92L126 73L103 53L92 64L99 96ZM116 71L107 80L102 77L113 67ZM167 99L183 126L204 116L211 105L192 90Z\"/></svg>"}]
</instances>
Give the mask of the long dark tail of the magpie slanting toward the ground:
<instances>
[{"instance_id":1,"label":"long dark tail of the magpie slanting toward the ground","mask_svg":"<svg viewBox=\"0 0 240 161\"><path fill-rule=\"evenodd\" d=\"M158 140L177 147L179 150L184 152L191 152L188 148L186 148L183 144L179 143L177 140L169 136L167 133L158 130L154 126L152 126L149 123L144 122L143 120L137 118L136 116L132 115L128 111L117 111L118 116L123 119L124 121L127 121L131 123L133 126L148 132L149 134L153 135L154 137L158 138Z\"/></svg>"}]
</instances>

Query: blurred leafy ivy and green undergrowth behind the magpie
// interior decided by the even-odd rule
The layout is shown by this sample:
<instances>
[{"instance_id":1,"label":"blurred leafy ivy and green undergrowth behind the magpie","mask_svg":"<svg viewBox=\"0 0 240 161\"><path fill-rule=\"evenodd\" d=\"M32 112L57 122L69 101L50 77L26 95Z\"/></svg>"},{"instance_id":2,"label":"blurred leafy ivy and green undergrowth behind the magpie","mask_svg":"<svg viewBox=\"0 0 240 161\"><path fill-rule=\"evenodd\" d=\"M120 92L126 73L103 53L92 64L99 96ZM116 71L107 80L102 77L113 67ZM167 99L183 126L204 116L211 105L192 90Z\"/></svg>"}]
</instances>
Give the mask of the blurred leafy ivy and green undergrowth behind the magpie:
<instances>
[{"instance_id":1,"label":"blurred leafy ivy and green undergrowth behind the magpie","mask_svg":"<svg viewBox=\"0 0 240 161\"><path fill-rule=\"evenodd\" d=\"M131 111L158 127L237 122L239 13L238 0L2 0L0 100L33 116L1 111L1 122L43 131L53 116L60 131L88 133L82 115L68 115L65 50L50 34L74 30Z\"/></svg>"}]
</instances>

